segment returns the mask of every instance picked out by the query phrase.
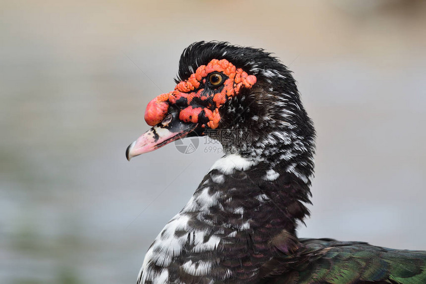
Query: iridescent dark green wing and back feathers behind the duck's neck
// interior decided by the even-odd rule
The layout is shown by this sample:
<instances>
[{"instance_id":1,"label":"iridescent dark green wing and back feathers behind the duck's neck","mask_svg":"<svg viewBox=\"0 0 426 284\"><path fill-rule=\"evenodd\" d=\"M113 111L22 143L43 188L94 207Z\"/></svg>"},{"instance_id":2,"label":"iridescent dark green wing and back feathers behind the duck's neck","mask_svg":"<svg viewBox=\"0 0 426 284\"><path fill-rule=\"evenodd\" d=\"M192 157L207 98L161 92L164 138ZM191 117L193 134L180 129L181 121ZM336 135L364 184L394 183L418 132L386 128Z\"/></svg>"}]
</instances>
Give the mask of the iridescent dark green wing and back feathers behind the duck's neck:
<instances>
[{"instance_id":1,"label":"iridescent dark green wing and back feathers behind the duck's neck","mask_svg":"<svg viewBox=\"0 0 426 284\"><path fill-rule=\"evenodd\" d=\"M295 283L426 283L426 251L330 239L301 242L308 257L293 271L297 276Z\"/></svg>"}]
</instances>

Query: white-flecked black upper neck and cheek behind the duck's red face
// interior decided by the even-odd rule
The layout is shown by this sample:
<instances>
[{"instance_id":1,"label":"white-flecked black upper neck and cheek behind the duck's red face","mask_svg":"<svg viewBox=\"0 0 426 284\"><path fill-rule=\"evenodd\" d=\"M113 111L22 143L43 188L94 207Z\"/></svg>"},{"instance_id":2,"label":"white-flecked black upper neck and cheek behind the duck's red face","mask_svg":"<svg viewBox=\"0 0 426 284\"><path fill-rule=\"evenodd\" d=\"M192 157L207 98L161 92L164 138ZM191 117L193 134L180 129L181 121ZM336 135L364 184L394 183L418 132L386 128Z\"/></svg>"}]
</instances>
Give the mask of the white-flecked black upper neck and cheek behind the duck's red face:
<instances>
[{"instance_id":1,"label":"white-flecked black upper neck and cheek behind the duck's red face","mask_svg":"<svg viewBox=\"0 0 426 284\"><path fill-rule=\"evenodd\" d=\"M220 129L207 135L218 140L226 154L263 161L270 169L294 174L309 186L314 173L313 123L295 85L278 91L268 86L281 81L271 80L229 100Z\"/></svg>"}]
</instances>

